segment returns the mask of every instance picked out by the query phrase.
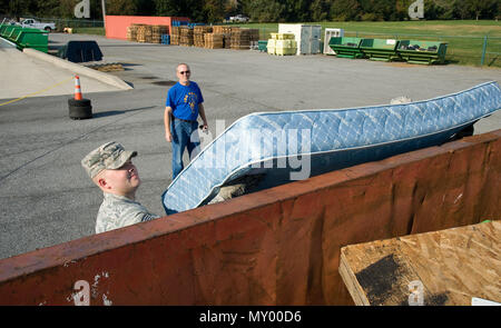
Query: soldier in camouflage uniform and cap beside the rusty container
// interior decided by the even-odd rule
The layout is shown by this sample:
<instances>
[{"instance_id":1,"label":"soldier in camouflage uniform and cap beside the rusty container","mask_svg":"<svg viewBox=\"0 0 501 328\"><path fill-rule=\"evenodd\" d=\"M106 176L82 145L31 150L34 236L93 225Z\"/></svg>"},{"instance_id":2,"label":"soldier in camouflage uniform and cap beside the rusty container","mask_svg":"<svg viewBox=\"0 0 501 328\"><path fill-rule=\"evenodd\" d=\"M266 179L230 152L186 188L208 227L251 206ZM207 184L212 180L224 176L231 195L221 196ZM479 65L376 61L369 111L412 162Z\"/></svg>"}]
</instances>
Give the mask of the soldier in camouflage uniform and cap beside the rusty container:
<instances>
[{"instance_id":1,"label":"soldier in camouflage uniform and cap beside the rusty container","mask_svg":"<svg viewBox=\"0 0 501 328\"><path fill-rule=\"evenodd\" d=\"M96 220L96 233L159 218L135 200L140 185L139 173L120 143L107 142L89 152L81 165L92 181L104 191L104 201Z\"/></svg>"}]
</instances>

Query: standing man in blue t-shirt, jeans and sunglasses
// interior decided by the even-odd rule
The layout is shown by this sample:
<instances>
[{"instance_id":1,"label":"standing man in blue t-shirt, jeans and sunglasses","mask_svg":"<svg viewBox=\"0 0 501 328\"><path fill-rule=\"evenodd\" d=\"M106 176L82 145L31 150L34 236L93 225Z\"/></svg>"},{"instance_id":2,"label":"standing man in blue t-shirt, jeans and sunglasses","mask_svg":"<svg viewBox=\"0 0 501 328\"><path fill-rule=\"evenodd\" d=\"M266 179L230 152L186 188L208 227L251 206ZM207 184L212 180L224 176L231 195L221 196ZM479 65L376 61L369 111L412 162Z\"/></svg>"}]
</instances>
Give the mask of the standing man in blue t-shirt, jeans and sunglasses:
<instances>
[{"instance_id":1,"label":"standing man in blue t-shirt, jeans and sunglasses","mask_svg":"<svg viewBox=\"0 0 501 328\"><path fill-rule=\"evenodd\" d=\"M186 63L176 68L179 81L169 89L165 102L164 125L165 139L173 145L173 180L183 171L183 153L188 149L189 158L199 146L198 113L204 121L203 129L207 130L207 118L204 110L204 98L200 88L189 80L190 71Z\"/></svg>"}]
</instances>

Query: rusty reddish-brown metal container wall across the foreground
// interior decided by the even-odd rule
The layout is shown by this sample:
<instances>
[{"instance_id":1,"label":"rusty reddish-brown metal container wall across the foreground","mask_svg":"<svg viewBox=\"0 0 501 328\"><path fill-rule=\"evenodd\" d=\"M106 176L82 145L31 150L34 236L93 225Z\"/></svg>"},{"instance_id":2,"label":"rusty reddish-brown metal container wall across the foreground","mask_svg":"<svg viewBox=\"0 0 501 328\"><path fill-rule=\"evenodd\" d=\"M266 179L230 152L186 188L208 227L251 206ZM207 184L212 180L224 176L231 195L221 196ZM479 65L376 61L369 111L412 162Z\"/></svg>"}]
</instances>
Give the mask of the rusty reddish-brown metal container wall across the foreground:
<instances>
[{"instance_id":1,"label":"rusty reddish-brown metal container wall across the foreground","mask_svg":"<svg viewBox=\"0 0 501 328\"><path fill-rule=\"evenodd\" d=\"M3 259L0 304L85 280L90 305L351 305L341 247L500 219L500 152L498 130Z\"/></svg>"}]
</instances>

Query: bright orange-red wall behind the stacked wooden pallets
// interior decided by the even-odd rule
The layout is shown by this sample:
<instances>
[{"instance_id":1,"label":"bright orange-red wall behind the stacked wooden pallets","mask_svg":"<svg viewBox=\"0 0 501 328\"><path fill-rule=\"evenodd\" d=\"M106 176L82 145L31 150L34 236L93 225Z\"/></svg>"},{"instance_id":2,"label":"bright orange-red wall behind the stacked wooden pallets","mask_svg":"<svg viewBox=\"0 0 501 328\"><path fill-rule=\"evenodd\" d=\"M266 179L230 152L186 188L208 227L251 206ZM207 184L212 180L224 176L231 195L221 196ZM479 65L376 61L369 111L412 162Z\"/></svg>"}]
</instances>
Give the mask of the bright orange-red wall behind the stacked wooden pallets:
<instances>
[{"instance_id":1,"label":"bright orange-red wall behind the stacked wooden pallets","mask_svg":"<svg viewBox=\"0 0 501 328\"><path fill-rule=\"evenodd\" d=\"M132 23L168 26L170 31L173 20L189 21L186 17L106 16L106 37L126 40L127 28Z\"/></svg>"}]
</instances>

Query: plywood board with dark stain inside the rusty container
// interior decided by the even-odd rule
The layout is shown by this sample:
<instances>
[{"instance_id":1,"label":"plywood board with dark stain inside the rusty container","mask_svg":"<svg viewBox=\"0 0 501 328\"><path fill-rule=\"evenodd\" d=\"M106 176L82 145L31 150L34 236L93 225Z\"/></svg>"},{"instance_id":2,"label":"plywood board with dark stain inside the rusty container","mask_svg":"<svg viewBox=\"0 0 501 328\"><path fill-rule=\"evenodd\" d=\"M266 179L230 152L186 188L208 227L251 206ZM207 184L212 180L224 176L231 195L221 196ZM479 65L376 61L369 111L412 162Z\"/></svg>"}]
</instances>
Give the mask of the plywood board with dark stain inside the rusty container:
<instances>
[{"instance_id":1,"label":"plywood board with dark stain inside the rusty container","mask_svg":"<svg viewBox=\"0 0 501 328\"><path fill-rule=\"evenodd\" d=\"M501 302L501 222L346 246L340 274L356 305Z\"/></svg>"}]
</instances>

